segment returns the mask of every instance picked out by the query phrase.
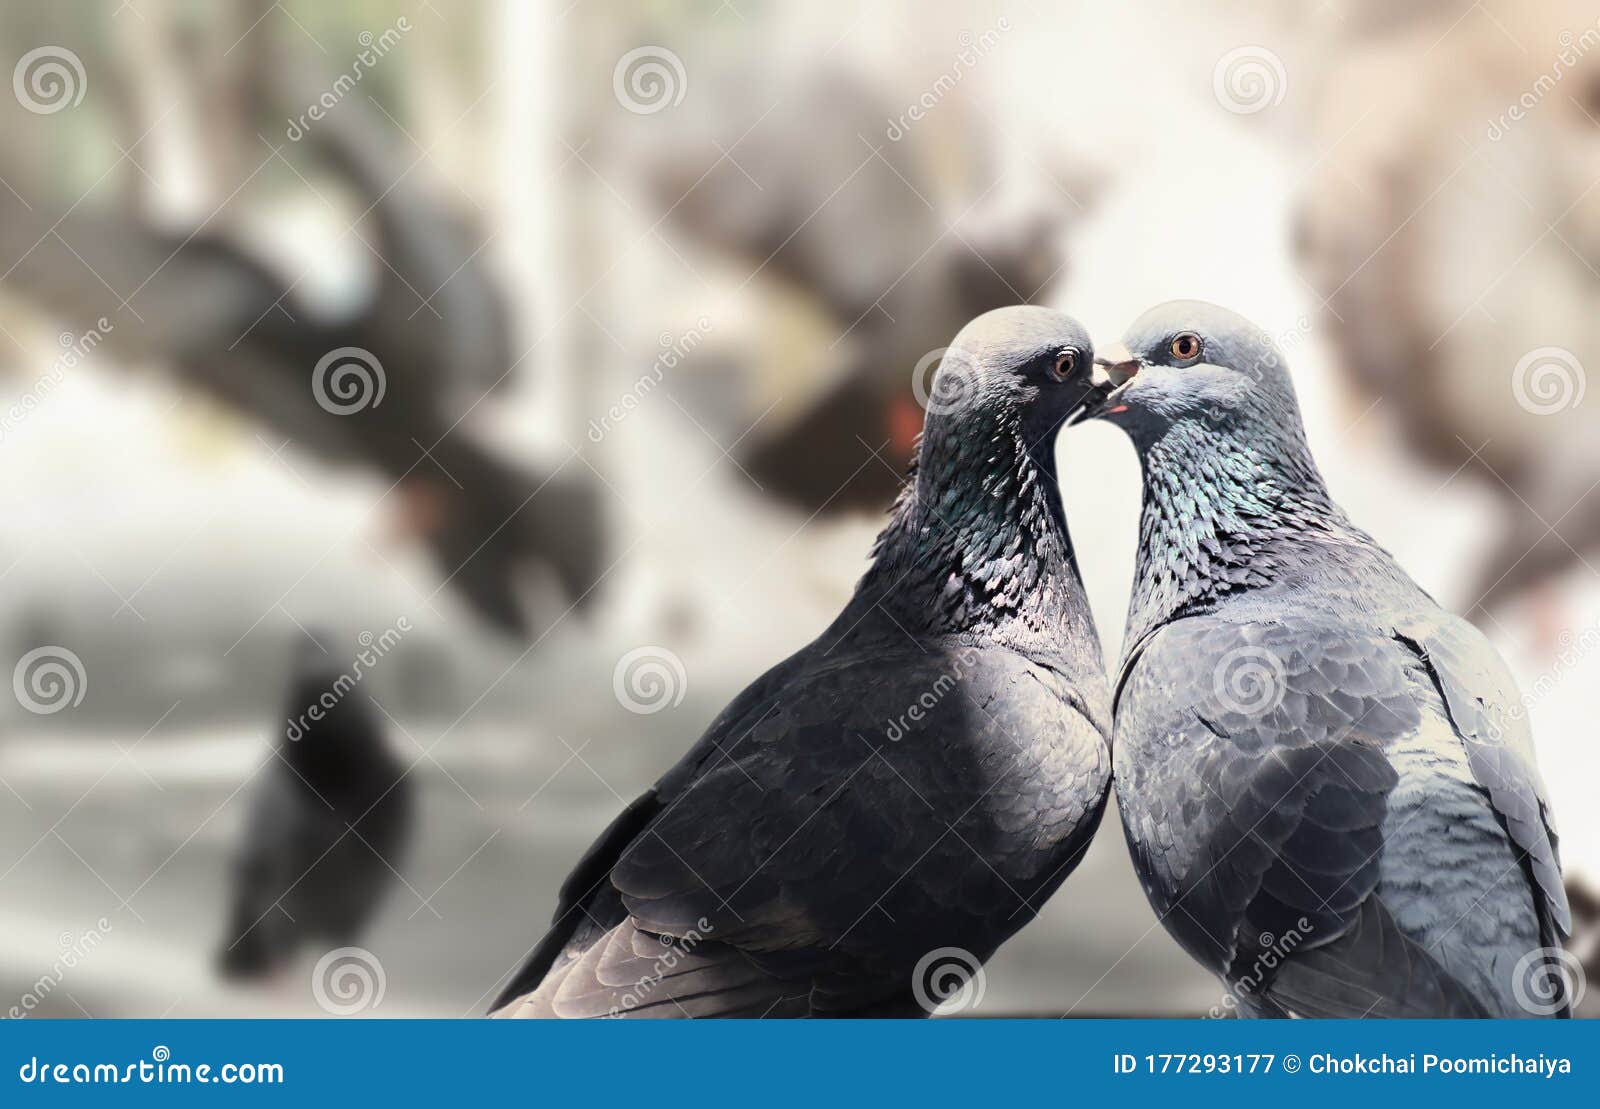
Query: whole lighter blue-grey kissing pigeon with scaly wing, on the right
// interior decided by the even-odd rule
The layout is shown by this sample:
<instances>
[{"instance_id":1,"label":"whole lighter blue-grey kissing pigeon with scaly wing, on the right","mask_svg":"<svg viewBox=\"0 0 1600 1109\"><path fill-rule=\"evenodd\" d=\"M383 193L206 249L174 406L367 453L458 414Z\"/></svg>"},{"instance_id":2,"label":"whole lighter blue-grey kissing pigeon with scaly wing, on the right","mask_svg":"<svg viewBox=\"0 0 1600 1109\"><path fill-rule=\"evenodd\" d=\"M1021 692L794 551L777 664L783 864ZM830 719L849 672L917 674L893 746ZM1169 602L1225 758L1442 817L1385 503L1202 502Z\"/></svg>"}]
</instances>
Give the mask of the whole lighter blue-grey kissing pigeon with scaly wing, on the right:
<instances>
[{"instance_id":1,"label":"whole lighter blue-grey kissing pigeon with scaly wing, on the right","mask_svg":"<svg viewBox=\"0 0 1600 1109\"><path fill-rule=\"evenodd\" d=\"M1333 502L1280 350L1149 310L1083 413L1144 467L1115 791L1146 896L1248 1016L1530 1016L1570 930L1506 664Z\"/></svg>"}]
</instances>

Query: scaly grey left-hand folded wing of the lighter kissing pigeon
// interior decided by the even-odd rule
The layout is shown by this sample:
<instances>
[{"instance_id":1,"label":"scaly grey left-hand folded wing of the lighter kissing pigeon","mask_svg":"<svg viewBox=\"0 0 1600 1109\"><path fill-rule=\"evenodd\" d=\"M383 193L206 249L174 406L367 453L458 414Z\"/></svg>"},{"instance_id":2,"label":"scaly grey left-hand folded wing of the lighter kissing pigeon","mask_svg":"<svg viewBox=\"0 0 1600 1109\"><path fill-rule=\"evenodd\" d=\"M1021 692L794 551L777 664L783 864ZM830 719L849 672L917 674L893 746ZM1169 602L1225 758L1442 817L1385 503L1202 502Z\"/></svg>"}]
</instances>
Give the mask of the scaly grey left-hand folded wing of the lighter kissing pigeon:
<instances>
[{"instance_id":1,"label":"scaly grey left-hand folded wing of the lighter kissing pigeon","mask_svg":"<svg viewBox=\"0 0 1600 1109\"><path fill-rule=\"evenodd\" d=\"M1267 1010L1480 1015L1378 895L1384 747L1419 723L1378 635L1200 616L1150 637L1120 695L1117 791L1174 938Z\"/></svg>"}]
</instances>

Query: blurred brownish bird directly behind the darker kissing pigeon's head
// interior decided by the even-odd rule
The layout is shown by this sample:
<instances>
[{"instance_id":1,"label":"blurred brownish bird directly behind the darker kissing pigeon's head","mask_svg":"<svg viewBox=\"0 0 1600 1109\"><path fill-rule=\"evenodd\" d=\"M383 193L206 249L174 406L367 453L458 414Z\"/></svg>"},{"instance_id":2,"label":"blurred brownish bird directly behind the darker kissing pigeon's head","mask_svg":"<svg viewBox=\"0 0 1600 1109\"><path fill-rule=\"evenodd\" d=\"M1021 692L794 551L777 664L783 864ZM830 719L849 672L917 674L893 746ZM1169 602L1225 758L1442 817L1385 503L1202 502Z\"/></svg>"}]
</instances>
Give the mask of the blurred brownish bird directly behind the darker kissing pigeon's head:
<instances>
[{"instance_id":1,"label":"blurred brownish bird directly behind the darker kissing pigeon's head","mask_svg":"<svg viewBox=\"0 0 1600 1109\"><path fill-rule=\"evenodd\" d=\"M933 365L952 318L1051 288L1078 202L1061 182L1043 197L998 187L992 152L963 149L982 131L955 125L955 104L950 125L901 128L880 88L835 66L789 78L771 101L706 102L704 134L674 133L645 157L662 218L826 320L818 342L779 352L770 413L750 427L766 408L752 402L726 438L765 491L806 512L878 509L922 429L914 368ZM960 166L957 187L941 187L941 163Z\"/></svg>"}]
</instances>

